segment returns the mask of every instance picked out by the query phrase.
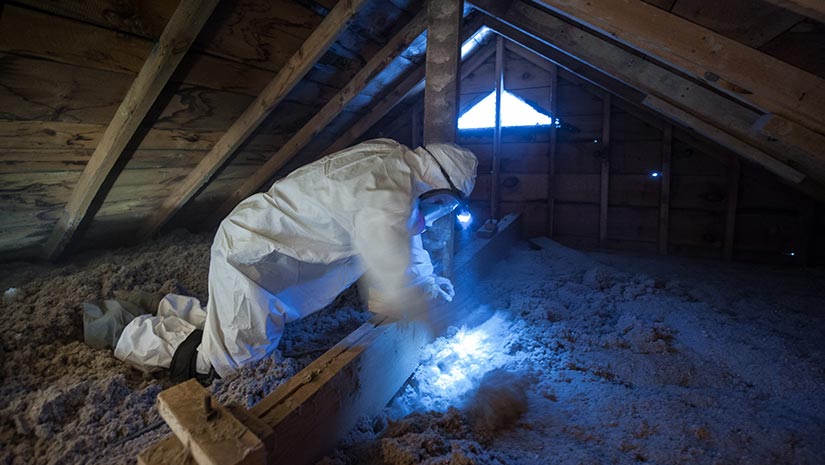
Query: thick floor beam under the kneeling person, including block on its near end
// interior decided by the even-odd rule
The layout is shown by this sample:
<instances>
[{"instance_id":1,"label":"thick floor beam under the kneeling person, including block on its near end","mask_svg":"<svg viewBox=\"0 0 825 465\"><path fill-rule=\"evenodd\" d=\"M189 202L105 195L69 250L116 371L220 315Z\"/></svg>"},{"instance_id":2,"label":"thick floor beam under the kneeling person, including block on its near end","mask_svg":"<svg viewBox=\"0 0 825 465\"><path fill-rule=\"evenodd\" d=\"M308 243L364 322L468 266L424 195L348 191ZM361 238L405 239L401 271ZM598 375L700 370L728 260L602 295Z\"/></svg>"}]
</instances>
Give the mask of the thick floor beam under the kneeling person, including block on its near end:
<instances>
[{"instance_id":1,"label":"thick floor beam under the kneeling person, including block on its near end","mask_svg":"<svg viewBox=\"0 0 825 465\"><path fill-rule=\"evenodd\" d=\"M519 237L518 220L518 215L508 215L493 238L472 238L464 244L454 262L461 299L435 311L461 315L476 308L479 302L472 290L507 256ZM315 463L358 418L374 415L392 399L417 367L420 348L431 340L431 331L421 323L376 316L248 411L233 407L227 412L194 382L170 388L158 398L175 435L143 451L138 463ZM233 432L231 437L227 431ZM216 440L231 450L216 448Z\"/></svg>"}]
</instances>

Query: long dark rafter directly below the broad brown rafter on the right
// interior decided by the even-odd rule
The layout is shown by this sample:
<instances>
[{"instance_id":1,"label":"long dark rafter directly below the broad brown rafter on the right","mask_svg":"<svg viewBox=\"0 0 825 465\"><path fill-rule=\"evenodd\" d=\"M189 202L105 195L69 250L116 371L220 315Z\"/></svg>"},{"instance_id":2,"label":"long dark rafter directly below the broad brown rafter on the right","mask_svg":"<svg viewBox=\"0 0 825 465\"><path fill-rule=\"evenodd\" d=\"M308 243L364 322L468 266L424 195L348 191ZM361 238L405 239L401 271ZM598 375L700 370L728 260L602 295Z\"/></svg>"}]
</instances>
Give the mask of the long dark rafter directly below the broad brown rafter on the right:
<instances>
[{"instance_id":1,"label":"long dark rafter directly below the broad brown rafter on the right","mask_svg":"<svg viewBox=\"0 0 825 465\"><path fill-rule=\"evenodd\" d=\"M698 85L668 69L643 59L595 34L521 1L509 6L477 0L474 5L488 14L489 27L535 51L571 72L583 76L622 98L641 104L648 96L660 98L701 120L699 132L731 147L731 138L742 141L739 154L758 163L811 196L822 199L825 154L811 154L809 143L796 144L792 137L769 137L754 127L761 113ZM673 119L673 114L663 114ZM677 122L678 123L678 122ZM682 121L681 124L690 124ZM714 131L701 131L712 127ZM786 136L790 131L786 131ZM799 133L794 136L798 136ZM823 148L818 148L822 151ZM809 179L810 178L810 179Z\"/></svg>"}]
</instances>

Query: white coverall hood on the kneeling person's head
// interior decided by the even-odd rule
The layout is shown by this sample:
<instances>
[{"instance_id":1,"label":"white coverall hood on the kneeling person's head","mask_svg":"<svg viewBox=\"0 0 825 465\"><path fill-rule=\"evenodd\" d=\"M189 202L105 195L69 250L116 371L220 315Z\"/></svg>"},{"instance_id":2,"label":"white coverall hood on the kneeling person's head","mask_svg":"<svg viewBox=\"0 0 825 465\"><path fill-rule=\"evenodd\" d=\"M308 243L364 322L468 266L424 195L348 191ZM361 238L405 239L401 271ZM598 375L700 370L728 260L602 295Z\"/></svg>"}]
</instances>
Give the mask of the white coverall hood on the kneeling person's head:
<instances>
[{"instance_id":1,"label":"white coverall hood on the kneeling person's head","mask_svg":"<svg viewBox=\"0 0 825 465\"><path fill-rule=\"evenodd\" d=\"M478 168L478 159L473 152L455 144L427 144L426 149L419 147L415 149L415 153L421 157L434 157L437 164L444 168L444 172L450 177L455 187L465 197L470 196L476 183ZM445 184L446 180L441 180L443 179L441 170L438 166L435 168L435 172L428 170L424 173L425 181L437 188L449 188L449 184ZM433 178L438 178L438 181Z\"/></svg>"}]
</instances>

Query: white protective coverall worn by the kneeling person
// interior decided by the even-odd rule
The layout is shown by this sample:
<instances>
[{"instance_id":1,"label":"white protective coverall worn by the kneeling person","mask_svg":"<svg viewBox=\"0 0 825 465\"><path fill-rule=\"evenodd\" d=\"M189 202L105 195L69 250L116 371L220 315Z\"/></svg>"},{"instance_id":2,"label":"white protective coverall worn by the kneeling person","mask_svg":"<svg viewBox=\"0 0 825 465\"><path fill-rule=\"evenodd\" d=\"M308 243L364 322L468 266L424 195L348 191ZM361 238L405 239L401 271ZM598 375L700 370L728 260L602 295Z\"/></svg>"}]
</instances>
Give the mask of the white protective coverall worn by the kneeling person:
<instances>
[{"instance_id":1,"label":"white protective coverall worn by the kneeling person","mask_svg":"<svg viewBox=\"0 0 825 465\"><path fill-rule=\"evenodd\" d=\"M478 165L472 152L456 145L427 150L390 139L367 141L299 168L238 204L212 244L198 371L211 365L225 377L263 358L277 347L285 323L325 307L365 271L381 296L373 304L370 292L370 310L399 316L415 311L425 287L436 282L421 238L411 231L417 198L449 188L439 164L469 196ZM186 321L173 330L165 329L164 318L136 319L135 328L124 329L115 355L142 369L168 367L174 350L157 357L163 350L141 347L163 344L143 340L150 333L174 334L167 346L179 344L196 326L189 321L193 313L183 315Z\"/></svg>"}]
</instances>

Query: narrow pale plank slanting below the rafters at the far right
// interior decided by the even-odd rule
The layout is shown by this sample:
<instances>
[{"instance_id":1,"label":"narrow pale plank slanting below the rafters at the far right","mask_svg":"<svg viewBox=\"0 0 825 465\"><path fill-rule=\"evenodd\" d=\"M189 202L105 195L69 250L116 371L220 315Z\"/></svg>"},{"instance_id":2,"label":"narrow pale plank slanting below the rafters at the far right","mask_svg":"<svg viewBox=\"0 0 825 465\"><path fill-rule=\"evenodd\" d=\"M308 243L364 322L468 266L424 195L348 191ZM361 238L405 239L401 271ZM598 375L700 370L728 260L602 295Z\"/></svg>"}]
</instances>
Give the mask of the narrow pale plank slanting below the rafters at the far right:
<instances>
[{"instance_id":1,"label":"narrow pale plank slanting below the rafters at the far right","mask_svg":"<svg viewBox=\"0 0 825 465\"><path fill-rule=\"evenodd\" d=\"M683 126L693 129L719 145L742 155L758 165L761 165L763 168L778 175L786 181L799 184L805 179L804 174L784 163L780 163L778 160L758 148L748 145L736 137L725 133L721 129L700 120L699 118L687 113L684 110L681 110L680 108L677 108L674 105L671 105L668 102L665 102L658 97L649 96L643 103L645 106L656 110L659 113L669 115L671 119L678 121Z\"/></svg>"}]
</instances>

